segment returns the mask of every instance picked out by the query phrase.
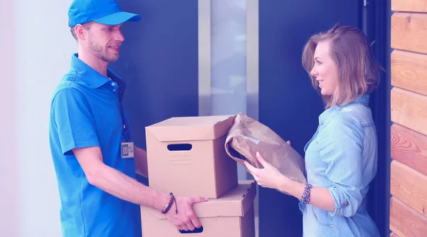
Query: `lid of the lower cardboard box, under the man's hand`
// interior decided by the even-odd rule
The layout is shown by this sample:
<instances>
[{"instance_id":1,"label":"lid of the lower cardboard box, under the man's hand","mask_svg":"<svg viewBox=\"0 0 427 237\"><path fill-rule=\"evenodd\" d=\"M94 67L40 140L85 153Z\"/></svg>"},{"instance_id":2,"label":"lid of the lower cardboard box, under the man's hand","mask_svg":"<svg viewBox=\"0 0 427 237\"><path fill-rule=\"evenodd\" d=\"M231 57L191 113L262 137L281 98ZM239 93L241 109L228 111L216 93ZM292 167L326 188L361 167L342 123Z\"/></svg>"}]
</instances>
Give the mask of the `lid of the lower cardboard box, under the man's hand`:
<instances>
[{"instance_id":1,"label":"lid of the lower cardboard box, under the man's hand","mask_svg":"<svg viewBox=\"0 0 427 237\"><path fill-rule=\"evenodd\" d=\"M239 184L221 196L219 199L209 199L208 201L193 205L194 212L198 218L218 217L218 216L244 216L253 206L256 195L256 185L254 180L240 180ZM174 211L172 207L171 211ZM166 218L154 209L147 209L159 219ZM178 210L179 211L179 210Z\"/></svg>"}]
</instances>

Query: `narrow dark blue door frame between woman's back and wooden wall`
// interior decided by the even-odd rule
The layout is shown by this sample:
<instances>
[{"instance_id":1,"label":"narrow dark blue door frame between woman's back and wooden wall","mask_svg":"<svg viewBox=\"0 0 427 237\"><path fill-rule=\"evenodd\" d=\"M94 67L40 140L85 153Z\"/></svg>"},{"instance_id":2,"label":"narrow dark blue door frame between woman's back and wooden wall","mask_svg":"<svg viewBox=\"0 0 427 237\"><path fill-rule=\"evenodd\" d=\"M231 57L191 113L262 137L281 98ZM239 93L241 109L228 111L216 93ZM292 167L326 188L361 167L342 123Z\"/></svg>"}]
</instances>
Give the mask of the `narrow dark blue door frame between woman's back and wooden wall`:
<instances>
[{"instance_id":1,"label":"narrow dark blue door frame between woman's back and wooden wall","mask_svg":"<svg viewBox=\"0 0 427 237\"><path fill-rule=\"evenodd\" d=\"M373 1L364 0L366 3L367 37L371 42L374 54L379 63L384 67L381 72L379 88L371 96L371 109L373 111L378 135L378 171L372 181L368 194L369 214L374 219L380 236L389 236L390 216L390 162L391 162L391 116L390 116L390 90L391 90L391 0Z\"/></svg>"}]
</instances>

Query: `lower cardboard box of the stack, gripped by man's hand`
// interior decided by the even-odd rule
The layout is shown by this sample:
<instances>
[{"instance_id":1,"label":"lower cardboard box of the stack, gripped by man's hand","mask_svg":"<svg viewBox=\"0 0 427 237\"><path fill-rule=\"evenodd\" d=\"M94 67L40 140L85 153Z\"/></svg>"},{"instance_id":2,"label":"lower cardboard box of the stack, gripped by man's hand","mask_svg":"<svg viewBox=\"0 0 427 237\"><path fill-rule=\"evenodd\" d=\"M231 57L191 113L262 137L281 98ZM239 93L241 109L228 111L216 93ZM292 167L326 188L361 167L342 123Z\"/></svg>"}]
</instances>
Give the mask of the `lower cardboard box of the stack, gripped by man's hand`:
<instances>
[{"instance_id":1,"label":"lower cardboard box of the stack, gripped by man's hand","mask_svg":"<svg viewBox=\"0 0 427 237\"><path fill-rule=\"evenodd\" d=\"M181 233L164 214L141 206L142 236L255 237L255 195L255 182L245 180L239 181L238 186L219 199L194 204L194 212L202 226L195 230L196 233Z\"/></svg>"}]
</instances>

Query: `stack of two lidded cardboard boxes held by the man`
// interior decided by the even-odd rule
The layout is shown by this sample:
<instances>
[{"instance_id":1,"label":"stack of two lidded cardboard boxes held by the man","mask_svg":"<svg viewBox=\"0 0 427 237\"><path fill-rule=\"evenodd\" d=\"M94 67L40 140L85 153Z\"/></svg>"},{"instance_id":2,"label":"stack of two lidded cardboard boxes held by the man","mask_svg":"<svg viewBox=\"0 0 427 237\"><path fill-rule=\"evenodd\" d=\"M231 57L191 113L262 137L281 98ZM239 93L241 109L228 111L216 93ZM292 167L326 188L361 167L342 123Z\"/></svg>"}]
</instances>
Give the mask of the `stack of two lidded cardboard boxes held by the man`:
<instances>
[{"instance_id":1,"label":"stack of two lidded cardboard boxes held by the man","mask_svg":"<svg viewBox=\"0 0 427 237\"><path fill-rule=\"evenodd\" d=\"M254 181L238 181L225 139L236 116L172 117L146 127L149 186L175 196L204 196L194 204L202 227L176 229L164 214L141 206L144 237L254 237Z\"/></svg>"}]
</instances>

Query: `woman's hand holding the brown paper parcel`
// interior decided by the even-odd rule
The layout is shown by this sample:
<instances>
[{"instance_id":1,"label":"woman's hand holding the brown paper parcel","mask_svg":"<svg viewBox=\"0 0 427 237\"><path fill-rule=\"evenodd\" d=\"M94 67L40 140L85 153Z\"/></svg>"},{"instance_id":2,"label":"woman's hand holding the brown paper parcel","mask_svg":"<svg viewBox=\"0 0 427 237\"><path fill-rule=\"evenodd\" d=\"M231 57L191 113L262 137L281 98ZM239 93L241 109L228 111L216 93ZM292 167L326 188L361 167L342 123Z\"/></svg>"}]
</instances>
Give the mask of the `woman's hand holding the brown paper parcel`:
<instances>
[{"instance_id":1,"label":"woman's hand holding the brown paper parcel","mask_svg":"<svg viewBox=\"0 0 427 237\"><path fill-rule=\"evenodd\" d=\"M290 179L285 177L278 171L278 169L266 162L265 159L261 157L259 152L256 152L256 158L258 159L258 162L263 165L263 169L253 167L246 161L244 163L246 165L246 169L248 169L248 172L252 174L257 183L265 188L283 189L283 187L286 186Z\"/></svg>"}]
</instances>

